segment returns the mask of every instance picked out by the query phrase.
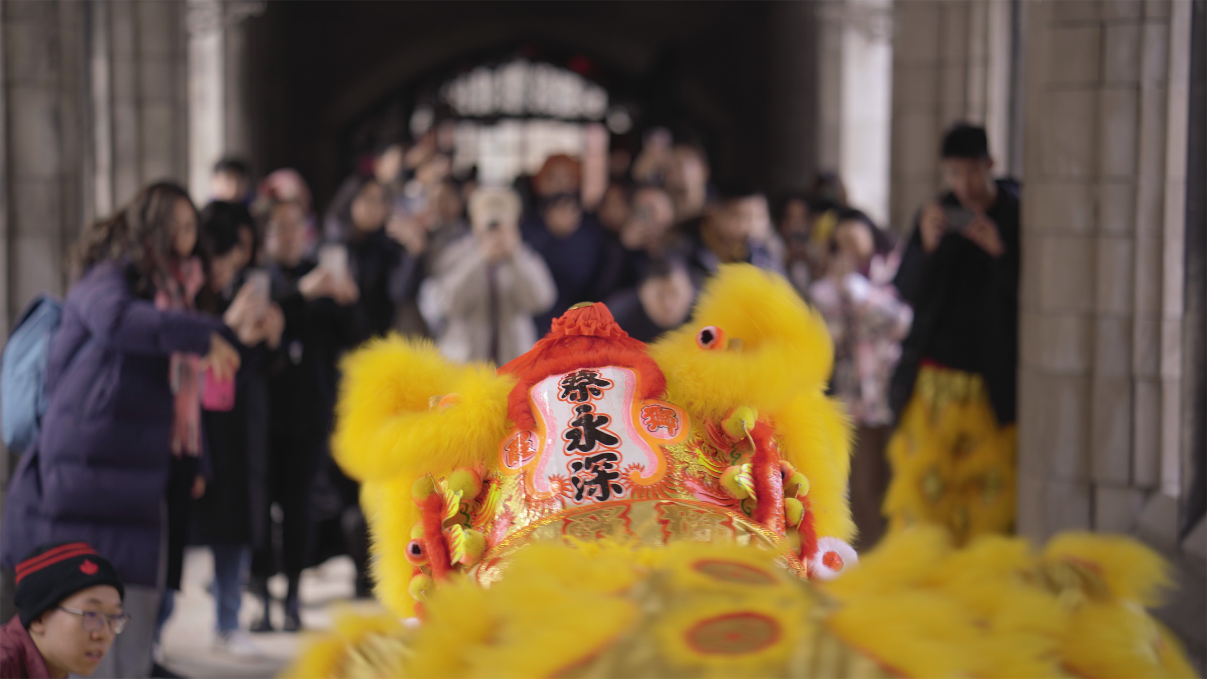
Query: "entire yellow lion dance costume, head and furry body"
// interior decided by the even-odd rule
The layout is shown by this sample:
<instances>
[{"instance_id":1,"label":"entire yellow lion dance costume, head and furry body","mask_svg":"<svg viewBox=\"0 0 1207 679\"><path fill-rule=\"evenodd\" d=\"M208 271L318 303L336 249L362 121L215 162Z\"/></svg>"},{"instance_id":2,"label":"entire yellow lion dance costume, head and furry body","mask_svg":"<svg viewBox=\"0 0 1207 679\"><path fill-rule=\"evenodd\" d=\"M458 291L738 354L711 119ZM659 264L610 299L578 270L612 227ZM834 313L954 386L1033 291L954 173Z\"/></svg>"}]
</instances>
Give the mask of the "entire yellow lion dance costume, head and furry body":
<instances>
[{"instance_id":1,"label":"entire yellow lion dance costume, head and furry body","mask_svg":"<svg viewBox=\"0 0 1207 679\"><path fill-rule=\"evenodd\" d=\"M397 337L351 355L333 439L378 597L297 677L1193 675L1121 539L849 546L822 320L723 267L646 347L604 304L497 371ZM416 617L419 620L416 620Z\"/></svg>"}]
</instances>

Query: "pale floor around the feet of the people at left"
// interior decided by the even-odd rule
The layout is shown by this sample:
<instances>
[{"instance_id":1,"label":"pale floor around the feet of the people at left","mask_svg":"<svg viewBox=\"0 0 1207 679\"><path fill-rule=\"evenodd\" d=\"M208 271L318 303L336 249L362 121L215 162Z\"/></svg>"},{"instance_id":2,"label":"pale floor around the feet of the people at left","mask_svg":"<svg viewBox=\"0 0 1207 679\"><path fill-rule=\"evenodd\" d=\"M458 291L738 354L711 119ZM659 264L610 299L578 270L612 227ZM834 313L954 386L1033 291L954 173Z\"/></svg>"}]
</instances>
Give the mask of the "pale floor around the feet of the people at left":
<instances>
[{"instance_id":1,"label":"pale floor around the feet of the people at left","mask_svg":"<svg viewBox=\"0 0 1207 679\"><path fill-rule=\"evenodd\" d=\"M307 629L320 631L331 626L331 613L340 607L374 610L374 602L352 600L354 568L351 559L339 557L302 576L302 623ZM206 587L214 579L214 561L204 547L191 549L185 556L182 591L177 593L176 610L163 631L163 646L169 669L185 677L274 677L305 643L305 634L272 632L252 634L262 657L238 658L212 648L214 598ZM269 590L278 599L285 597L285 579L269 581ZM260 603L247 593L243 596L239 620L246 628L260 615ZM284 611L278 600L272 611L279 629Z\"/></svg>"}]
</instances>

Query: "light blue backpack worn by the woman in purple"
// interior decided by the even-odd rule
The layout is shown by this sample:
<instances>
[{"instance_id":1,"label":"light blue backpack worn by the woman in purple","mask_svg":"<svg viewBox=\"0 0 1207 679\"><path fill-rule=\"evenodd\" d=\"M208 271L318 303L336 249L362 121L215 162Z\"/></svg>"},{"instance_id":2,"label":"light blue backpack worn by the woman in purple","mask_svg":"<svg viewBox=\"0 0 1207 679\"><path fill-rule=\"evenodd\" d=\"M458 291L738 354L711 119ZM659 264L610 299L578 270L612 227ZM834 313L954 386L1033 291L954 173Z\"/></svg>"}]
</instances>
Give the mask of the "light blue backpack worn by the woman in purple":
<instances>
[{"instance_id":1,"label":"light blue backpack worn by the woman in purple","mask_svg":"<svg viewBox=\"0 0 1207 679\"><path fill-rule=\"evenodd\" d=\"M0 428L4 445L22 454L41 429L46 412L46 365L51 340L63 320L63 302L41 295L25 307L0 356Z\"/></svg>"}]
</instances>

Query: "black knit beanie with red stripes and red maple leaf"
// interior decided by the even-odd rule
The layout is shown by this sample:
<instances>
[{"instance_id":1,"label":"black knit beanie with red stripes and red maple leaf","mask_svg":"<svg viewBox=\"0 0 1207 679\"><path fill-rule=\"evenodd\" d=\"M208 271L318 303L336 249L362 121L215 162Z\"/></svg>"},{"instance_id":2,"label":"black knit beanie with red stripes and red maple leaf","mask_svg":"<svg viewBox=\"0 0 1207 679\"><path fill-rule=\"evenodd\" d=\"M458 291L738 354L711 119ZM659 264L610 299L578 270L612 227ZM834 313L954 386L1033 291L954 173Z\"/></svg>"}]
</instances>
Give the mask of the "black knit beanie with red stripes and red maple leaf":
<instances>
[{"instance_id":1,"label":"black knit beanie with red stripes and red maple leaf","mask_svg":"<svg viewBox=\"0 0 1207 679\"><path fill-rule=\"evenodd\" d=\"M17 590L12 600L21 623L29 625L59 602L88 587L111 585L126 598L117 569L88 546L88 542L43 545L17 564Z\"/></svg>"}]
</instances>

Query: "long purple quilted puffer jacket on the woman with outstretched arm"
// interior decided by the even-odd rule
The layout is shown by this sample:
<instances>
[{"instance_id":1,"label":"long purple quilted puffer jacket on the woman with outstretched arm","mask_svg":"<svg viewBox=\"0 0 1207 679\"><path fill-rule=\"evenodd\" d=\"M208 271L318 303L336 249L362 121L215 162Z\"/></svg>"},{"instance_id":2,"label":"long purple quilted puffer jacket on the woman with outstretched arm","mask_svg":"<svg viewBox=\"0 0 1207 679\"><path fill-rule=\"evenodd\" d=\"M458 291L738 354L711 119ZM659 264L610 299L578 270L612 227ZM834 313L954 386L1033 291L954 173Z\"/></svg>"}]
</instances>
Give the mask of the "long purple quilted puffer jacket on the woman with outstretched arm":
<instances>
[{"instance_id":1,"label":"long purple quilted puffer jacket on the woman with outstretched arm","mask_svg":"<svg viewBox=\"0 0 1207 679\"><path fill-rule=\"evenodd\" d=\"M218 319L164 312L134 295L121 265L94 266L68 292L47 366L49 405L4 507L0 563L81 540L122 581L156 586L171 457L173 352L205 354Z\"/></svg>"}]
</instances>

